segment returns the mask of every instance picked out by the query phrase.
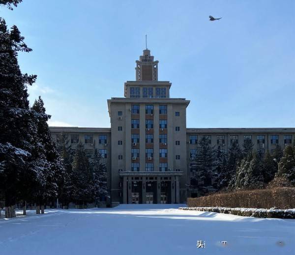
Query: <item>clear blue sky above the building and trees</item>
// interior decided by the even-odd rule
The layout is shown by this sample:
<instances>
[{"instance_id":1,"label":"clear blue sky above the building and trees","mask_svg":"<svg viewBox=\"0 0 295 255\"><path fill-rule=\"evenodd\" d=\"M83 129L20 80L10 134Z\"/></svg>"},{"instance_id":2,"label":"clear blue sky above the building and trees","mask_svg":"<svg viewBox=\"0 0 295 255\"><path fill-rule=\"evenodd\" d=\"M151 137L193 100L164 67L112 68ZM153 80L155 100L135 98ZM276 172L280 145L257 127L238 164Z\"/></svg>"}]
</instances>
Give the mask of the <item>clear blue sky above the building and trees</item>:
<instances>
[{"instance_id":1,"label":"clear blue sky above the building and trees","mask_svg":"<svg viewBox=\"0 0 295 255\"><path fill-rule=\"evenodd\" d=\"M33 49L19 63L51 125L110 127L148 34L187 127L295 127L294 0L24 0L0 16Z\"/></svg>"}]
</instances>

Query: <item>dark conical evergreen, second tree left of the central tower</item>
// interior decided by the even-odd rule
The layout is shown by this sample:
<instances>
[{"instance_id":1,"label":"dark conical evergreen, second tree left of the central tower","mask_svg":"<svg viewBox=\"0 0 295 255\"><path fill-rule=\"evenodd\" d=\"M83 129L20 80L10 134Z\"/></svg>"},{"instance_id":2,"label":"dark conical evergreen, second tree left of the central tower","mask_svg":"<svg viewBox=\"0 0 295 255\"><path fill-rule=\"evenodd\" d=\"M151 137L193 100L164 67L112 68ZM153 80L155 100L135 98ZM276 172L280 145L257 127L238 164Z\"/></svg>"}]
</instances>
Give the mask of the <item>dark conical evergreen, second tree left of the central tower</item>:
<instances>
[{"instance_id":1,"label":"dark conical evergreen, second tree left of the central tower","mask_svg":"<svg viewBox=\"0 0 295 255\"><path fill-rule=\"evenodd\" d=\"M82 143L77 144L77 149L72 163L72 196L76 204L85 205L85 202L93 201L94 183L89 160L85 154Z\"/></svg>"}]
</instances>

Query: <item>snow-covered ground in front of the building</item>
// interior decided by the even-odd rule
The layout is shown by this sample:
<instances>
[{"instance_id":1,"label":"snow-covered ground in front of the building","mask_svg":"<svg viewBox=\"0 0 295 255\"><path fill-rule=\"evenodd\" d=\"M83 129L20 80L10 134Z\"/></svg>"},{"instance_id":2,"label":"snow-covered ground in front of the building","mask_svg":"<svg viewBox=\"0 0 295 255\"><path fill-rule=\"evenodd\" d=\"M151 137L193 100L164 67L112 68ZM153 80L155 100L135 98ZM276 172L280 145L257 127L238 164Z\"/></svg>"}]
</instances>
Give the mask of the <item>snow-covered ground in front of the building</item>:
<instances>
[{"instance_id":1,"label":"snow-covered ground in front of the building","mask_svg":"<svg viewBox=\"0 0 295 255\"><path fill-rule=\"evenodd\" d=\"M295 220L120 205L0 219L2 255L293 255ZM197 241L206 242L197 248ZM222 241L227 241L226 245Z\"/></svg>"}]
</instances>

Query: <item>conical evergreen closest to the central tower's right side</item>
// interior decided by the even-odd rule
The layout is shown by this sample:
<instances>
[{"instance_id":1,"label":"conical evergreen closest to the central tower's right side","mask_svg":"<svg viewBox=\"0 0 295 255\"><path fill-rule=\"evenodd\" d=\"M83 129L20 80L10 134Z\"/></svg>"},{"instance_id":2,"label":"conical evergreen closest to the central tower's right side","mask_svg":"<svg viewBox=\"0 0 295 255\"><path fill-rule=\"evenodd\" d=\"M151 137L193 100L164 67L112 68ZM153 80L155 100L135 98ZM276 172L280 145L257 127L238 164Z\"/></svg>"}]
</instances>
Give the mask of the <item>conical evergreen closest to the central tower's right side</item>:
<instances>
[{"instance_id":1,"label":"conical evergreen closest to the central tower's right side","mask_svg":"<svg viewBox=\"0 0 295 255\"><path fill-rule=\"evenodd\" d=\"M204 186L210 186L213 177L213 167L215 166L214 150L206 137L203 137L198 146L196 156L196 173L194 178L202 181ZM199 185L201 186L201 185Z\"/></svg>"}]
</instances>

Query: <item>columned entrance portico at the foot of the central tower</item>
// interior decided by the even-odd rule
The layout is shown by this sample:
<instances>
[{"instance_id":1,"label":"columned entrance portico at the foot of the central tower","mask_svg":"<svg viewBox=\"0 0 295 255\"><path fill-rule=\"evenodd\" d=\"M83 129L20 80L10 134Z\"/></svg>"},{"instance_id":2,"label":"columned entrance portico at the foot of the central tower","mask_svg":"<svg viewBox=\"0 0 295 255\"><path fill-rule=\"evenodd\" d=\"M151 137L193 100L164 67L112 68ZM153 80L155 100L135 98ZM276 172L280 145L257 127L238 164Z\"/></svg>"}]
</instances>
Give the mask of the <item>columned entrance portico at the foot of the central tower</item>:
<instances>
[{"instance_id":1,"label":"columned entrance portico at the foot of the central tower","mask_svg":"<svg viewBox=\"0 0 295 255\"><path fill-rule=\"evenodd\" d=\"M121 171L123 203L179 203L182 172Z\"/></svg>"}]
</instances>

